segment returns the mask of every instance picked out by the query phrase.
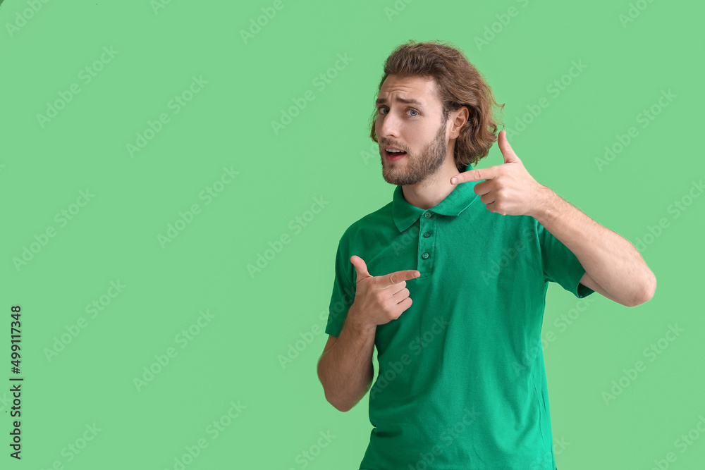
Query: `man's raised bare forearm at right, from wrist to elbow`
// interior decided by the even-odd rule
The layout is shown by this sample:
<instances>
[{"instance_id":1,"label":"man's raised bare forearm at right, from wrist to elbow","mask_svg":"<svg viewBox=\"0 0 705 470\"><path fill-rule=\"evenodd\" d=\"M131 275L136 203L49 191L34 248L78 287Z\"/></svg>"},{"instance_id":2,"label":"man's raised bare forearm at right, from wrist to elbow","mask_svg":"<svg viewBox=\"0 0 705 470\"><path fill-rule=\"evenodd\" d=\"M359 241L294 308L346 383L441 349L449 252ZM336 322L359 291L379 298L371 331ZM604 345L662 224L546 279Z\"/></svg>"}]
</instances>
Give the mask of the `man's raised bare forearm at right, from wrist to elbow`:
<instances>
[{"instance_id":1,"label":"man's raised bare forearm at right, from wrist to elbow","mask_svg":"<svg viewBox=\"0 0 705 470\"><path fill-rule=\"evenodd\" d=\"M656 278L634 245L545 188L541 204L531 215L570 249L585 272L621 304L650 299Z\"/></svg>"}]
</instances>

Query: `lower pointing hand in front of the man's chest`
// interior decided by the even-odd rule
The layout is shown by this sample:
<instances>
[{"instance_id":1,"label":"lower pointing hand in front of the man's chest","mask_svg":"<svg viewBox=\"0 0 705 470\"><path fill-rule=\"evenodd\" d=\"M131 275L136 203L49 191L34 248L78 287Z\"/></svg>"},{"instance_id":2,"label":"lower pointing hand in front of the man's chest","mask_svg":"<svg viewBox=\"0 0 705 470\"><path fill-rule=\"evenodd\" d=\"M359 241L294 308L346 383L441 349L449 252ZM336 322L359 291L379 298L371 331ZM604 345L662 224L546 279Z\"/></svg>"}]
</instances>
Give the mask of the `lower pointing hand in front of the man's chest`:
<instances>
[{"instance_id":1,"label":"lower pointing hand in front of the man's chest","mask_svg":"<svg viewBox=\"0 0 705 470\"><path fill-rule=\"evenodd\" d=\"M406 281L421 276L419 271L407 269L384 276L372 276L360 256L350 256L350 262L357 271L357 287L348 317L352 317L355 323L363 328L376 328L377 325L398 319L411 307Z\"/></svg>"}]
</instances>

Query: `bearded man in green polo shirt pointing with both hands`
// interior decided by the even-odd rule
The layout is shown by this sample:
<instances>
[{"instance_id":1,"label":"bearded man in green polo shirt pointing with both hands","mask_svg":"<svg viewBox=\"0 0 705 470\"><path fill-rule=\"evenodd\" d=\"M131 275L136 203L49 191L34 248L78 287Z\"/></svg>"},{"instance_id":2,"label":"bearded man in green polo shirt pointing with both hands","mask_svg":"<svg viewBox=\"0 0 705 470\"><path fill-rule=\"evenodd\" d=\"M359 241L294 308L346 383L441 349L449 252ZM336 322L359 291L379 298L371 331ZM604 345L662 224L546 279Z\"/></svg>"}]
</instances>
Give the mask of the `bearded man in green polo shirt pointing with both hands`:
<instances>
[{"instance_id":1,"label":"bearded man in green polo shirt pointing with both hands","mask_svg":"<svg viewBox=\"0 0 705 470\"><path fill-rule=\"evenodd\" d=\"M537 183L458 49L388 57L371 136L393 200L345 230L318 364L343 412L370 390L360 469L556 469L540 334L548 282L627 307L656 278L635 247Z\"/></svg>"}]
</instances>

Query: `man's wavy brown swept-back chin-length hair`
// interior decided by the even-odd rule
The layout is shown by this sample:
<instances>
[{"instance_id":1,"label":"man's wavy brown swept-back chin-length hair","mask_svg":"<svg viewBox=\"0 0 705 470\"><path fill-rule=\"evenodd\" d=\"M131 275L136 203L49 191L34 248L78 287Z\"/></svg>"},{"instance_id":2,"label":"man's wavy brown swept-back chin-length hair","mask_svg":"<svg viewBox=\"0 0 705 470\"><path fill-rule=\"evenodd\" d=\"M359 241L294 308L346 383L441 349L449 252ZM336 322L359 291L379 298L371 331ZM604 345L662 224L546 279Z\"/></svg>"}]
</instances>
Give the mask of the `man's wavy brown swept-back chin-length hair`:
<instances>
[{"instance_id":1,"label":"man's wavy brown swept-back chin-length hair","mask_svg":"<svg viewBox=\"0 0 705 470\"><path fill-rule=\"evenodd\" d=\"M494 106L503 109L492 94L482 74L467 60L462 49L449 42L415 42L410 40L397 47L384 63L384 75L379 81L377 97L384 80L389 75L400 77L422 77L434 79L436 93L443 104L442 120L467 106L469 111L465 125L455 141L453 158L459 172L465 171L468 163L477 163L489 154L497 141L498 125L503 125L494 116ZM377 109L372 113L370 137L377 142L374 130Z\"/></svg>"}]
</instances>

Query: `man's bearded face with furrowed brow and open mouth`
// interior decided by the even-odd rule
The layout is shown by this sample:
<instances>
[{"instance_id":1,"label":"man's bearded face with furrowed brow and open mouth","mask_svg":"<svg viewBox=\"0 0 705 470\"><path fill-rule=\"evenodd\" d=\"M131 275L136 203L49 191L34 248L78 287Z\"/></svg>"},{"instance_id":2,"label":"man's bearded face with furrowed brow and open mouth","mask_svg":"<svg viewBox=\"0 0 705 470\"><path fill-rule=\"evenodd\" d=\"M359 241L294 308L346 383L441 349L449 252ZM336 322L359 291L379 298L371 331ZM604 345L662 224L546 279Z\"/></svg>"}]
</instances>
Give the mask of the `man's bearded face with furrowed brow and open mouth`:
<instances>
[{"instance_id":1,"label":"man's bearded face with furrowed brow and open mouth","mask_svg":"<svg viewBox=\"0 0 705 470\"><path fill-rule=\"evenodd\" d=\"M405 103L400 100L416 100ZM448 152L446 119L429 78L399 78L389 75L379 90L374 124L382 177L392 185L415 185L434 175L443 166ZM396 147L402 156L388 153Z\"/></svg>"}]
</instances>

